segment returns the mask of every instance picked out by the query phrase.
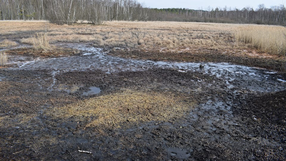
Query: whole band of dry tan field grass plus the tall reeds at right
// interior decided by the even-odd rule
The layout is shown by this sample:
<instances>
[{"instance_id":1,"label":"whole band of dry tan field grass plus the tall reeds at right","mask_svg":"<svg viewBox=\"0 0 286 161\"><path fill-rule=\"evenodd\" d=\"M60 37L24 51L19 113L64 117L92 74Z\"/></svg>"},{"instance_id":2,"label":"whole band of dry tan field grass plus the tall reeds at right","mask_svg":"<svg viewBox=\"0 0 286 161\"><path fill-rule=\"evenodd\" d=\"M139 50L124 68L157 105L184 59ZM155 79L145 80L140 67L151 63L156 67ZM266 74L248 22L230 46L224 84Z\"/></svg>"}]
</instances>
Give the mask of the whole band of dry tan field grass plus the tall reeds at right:
<instances>
[{"instance_id":1,"label":"whole band of dry tan field grass plus the tall reeds at right","mask_svg":"<svg viewBox=\"0 0 286 161\"><path fill-rule=\"evenodd\" d=\"M46 21L1 21L0 34L21 32L40 34L46 24ZM72 26L48 24L48 26L49 35L46 35L46 41L51 43L92 42L95 46L141 49L241 49L243 45L237 42L243 41L252 43L251 47L261 48L262 52L271 54L281 53L281 50L277 48L285 44L283 28L278 26L129 21L106 22L101 26L90 24ZM234 41L234 37L237 41ZM32 37L21 38L20 41L34 44Z\"/></svg>"}]
</instances>

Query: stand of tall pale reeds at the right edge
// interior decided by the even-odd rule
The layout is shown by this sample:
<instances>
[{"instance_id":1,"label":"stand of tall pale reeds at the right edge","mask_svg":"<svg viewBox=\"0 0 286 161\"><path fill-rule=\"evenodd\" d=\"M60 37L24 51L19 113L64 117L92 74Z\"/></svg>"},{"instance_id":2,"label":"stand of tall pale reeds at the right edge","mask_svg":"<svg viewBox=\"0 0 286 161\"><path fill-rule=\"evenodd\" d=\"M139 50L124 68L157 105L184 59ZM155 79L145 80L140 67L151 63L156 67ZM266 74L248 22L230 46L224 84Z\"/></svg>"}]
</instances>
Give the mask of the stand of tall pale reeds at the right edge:
<instances>
[{"instance_id":1,"label":"stand of tall pale reeds at the right edge","mask_svg":"<svg viewBox=\"0 0 286 161\"><path fill-rule=\"evenodd\" d=\"M261 52L285 55L286 29L280 26L247 25L235 33L236 41L249 44Z\"/></svg>"}]
</instances>

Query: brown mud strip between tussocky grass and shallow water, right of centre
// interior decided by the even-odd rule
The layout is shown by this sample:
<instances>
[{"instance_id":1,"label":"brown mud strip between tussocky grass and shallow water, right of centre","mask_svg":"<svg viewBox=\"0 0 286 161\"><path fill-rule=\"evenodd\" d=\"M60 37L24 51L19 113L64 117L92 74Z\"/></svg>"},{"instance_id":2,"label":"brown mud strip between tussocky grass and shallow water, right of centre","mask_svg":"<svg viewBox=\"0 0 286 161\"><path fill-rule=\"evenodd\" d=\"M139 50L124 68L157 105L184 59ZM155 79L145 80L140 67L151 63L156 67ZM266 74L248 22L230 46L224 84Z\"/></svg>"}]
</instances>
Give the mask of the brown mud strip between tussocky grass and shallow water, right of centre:
<instances>
[{"instance_id":1,"label":"brown mud strip between tussocky grass and shallow water, right of centre","mask_svg":"<svg viewBox=\"0 0 286 161\"><path fill-rule=\"evenodd\" d=\"M285 72L285 58L261 58L245 55L238 55L231 51L214 49L195 49L194 51L167 51L161 50L137 50L121 49L108 53L109 55L123 58L148 59L153 61L186 61L186 62L228 62L245 66L253 66L270 70ZM284 65L283 65L284 64Z\"/></svg>"}]
</instances>

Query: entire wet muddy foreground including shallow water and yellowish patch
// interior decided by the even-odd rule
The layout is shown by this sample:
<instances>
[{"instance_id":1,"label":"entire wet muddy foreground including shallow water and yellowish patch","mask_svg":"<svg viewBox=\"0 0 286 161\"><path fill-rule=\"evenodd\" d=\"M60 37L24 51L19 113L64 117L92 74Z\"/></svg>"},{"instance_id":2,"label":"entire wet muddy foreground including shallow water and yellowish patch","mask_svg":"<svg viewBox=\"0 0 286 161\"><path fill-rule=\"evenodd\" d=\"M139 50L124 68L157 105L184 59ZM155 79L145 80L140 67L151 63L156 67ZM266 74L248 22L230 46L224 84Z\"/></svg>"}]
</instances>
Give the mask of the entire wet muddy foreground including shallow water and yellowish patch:
<instances>
[{"instance_id":1,"label":"entire wet muddy foreground including shallow water and yellowish patch","mask_svg":"<svg viewBox=\"0 0 286 161\"><path fill-rule=\"evenodd\" d=\"M0 68L1 160L285 160L283 74L65 45Z\"/></svg>"}]
</instances>

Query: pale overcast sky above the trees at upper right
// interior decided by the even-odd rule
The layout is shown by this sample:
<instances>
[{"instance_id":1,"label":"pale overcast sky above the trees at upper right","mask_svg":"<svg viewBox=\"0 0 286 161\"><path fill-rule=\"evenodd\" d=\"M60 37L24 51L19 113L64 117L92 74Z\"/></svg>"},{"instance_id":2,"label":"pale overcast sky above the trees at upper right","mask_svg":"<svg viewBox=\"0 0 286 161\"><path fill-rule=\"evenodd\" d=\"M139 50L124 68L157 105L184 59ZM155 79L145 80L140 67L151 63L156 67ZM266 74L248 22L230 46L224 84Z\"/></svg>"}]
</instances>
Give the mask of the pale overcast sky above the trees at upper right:
<instances>
[{"instance_id":1,"label":"pale overcast sky above the trees at upper right","mask_svg":"<svg viewBox=\"0 0 286 161\"><path fill-rule=\"evenodd\" d=\"M209 6L211 8L227 8L236 7L242 9L243 7L258 8L259 4L264 4L266 8L285 4L286 0L137 0L139 3L144 3L145 7L150 8L189 8L198 10L203 8L206 10ZM285 4L286 5L286 4Z\"/></svg>"}]
</instances>

